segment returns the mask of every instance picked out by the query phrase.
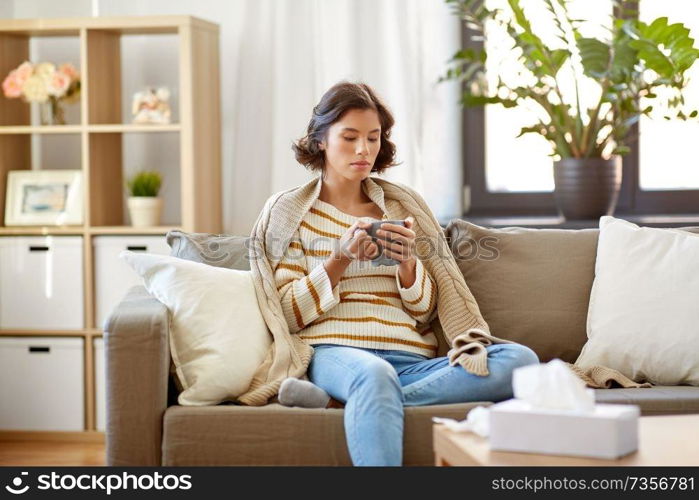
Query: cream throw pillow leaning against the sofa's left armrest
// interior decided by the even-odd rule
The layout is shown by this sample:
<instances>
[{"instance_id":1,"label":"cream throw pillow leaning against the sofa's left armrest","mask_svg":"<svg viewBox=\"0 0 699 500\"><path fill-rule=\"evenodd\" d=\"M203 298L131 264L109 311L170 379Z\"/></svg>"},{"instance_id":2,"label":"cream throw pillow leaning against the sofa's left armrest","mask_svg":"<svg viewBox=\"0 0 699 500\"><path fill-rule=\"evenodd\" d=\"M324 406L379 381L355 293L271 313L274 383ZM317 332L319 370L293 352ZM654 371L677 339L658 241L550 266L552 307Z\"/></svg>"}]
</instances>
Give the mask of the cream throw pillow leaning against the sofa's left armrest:
<instances>
[{"instance_id":1,"label":"cream throw pillow leaning against the sofa's left armrest","mask_svg":"<svg viewBox=\"0 0 699 500\"><path fill-rule=\"evenodd\" d=\"M170 311L179 404L215 405L246 392L271 345L250 271L165 255L119 256Z\"/></svg>"}]
</instances>

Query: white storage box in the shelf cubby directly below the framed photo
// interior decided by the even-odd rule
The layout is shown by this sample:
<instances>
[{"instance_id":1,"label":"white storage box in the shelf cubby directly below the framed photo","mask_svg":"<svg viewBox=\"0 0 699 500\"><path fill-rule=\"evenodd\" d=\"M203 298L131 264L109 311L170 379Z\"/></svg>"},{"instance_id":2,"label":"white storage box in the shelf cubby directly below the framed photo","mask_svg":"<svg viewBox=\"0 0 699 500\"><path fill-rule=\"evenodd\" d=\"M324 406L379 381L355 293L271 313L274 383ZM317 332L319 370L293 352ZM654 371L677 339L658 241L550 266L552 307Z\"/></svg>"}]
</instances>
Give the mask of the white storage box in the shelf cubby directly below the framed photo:
<instances>
[{"instance_id":1,"label":"white storage box in the shelf cubby directly below the framed photo","mask_svg":"<svg viewBox=\"0 0 699 500\"><path fill-rule=\"evenodd\" d=\"M82 236L0 237L0 328L84 328Z\"/></svg>"}]
</instances>

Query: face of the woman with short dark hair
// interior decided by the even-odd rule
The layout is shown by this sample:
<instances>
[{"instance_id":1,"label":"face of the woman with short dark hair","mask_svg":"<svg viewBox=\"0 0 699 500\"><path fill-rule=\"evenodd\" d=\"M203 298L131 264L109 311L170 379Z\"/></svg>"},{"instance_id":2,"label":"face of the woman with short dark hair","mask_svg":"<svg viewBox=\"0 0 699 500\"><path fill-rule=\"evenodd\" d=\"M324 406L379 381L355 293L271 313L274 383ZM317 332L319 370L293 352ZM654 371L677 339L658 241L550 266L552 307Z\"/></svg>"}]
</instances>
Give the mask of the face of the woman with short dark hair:
<instances>
[{"instance_id":1,"label":"face of the woman with short dark hair","mask_svg":"<svg viewBox=\"0 0 699 500\"><path fill-rule=\"evenodd\" d=\"M381 124L373 109L350 109L328 129L321 143L325 175L362 180L369 176L381 148Z\"/></svg>"}]
</instances>

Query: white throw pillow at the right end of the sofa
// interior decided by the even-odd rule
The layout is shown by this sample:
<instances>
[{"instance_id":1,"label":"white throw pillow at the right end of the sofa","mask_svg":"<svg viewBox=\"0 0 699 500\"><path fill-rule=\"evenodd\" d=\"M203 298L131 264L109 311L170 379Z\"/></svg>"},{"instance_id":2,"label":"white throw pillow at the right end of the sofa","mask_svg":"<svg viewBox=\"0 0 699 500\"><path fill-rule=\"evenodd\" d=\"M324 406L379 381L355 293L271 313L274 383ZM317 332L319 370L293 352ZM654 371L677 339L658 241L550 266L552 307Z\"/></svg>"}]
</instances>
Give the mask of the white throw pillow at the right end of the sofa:
<instances>
[{"instance_id":1,"label":"white throw pillow at the right end of the sofa","mask_svg":"<svg viewBox=\"0 0 699 500\"><path fill-rule=\"evenodd\" d=\"M699 235L600 218L588 341L576 364L699 385Z\"/></svg>"}]
</instances>

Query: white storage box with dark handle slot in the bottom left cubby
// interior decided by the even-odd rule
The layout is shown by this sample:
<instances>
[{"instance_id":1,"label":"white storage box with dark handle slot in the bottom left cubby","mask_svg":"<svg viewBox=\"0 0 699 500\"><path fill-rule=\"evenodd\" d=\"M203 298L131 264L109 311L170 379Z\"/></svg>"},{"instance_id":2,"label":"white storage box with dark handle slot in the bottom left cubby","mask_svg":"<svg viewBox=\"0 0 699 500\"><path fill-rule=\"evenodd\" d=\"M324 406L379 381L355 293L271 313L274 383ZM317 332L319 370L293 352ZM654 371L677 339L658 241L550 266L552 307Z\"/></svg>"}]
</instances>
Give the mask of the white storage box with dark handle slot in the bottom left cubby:
<instances>
[{"instance_id":1,"label":"white storage box with dark handle slot in the bottom left cubby","mask_svg":"<svg viewBox=\"0 0 699 500\"><path fill-rule=\"evenodd\" d=\"M83 339L0 337L0 429L84 429Z\"/></svg>"}]
</instances>

